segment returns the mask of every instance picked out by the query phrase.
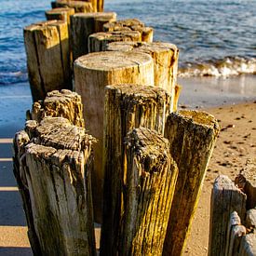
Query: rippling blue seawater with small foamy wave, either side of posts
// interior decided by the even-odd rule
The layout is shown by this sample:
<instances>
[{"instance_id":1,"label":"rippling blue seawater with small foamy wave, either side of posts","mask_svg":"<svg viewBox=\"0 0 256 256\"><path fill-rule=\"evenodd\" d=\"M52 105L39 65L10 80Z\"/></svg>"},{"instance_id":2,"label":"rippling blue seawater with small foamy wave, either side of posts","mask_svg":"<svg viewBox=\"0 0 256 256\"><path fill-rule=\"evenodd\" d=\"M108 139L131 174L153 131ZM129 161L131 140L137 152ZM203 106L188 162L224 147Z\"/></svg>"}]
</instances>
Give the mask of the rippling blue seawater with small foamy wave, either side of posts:
<instances>
[{"instance_id":1,"label":"rippling blue seawater with small foamy wave, either side of posts","mask_svg":"<svg viewBox=\"0 0 256 256\"><path fill-rule=\"evenodd\" d=\"M0 1L0 85L27 81L22 29L45 20L50 1ZM255 0L105 0L118 19L138 18L155 40L180 49L179 75L256 74Z\"/></svg>"}]
</instances>

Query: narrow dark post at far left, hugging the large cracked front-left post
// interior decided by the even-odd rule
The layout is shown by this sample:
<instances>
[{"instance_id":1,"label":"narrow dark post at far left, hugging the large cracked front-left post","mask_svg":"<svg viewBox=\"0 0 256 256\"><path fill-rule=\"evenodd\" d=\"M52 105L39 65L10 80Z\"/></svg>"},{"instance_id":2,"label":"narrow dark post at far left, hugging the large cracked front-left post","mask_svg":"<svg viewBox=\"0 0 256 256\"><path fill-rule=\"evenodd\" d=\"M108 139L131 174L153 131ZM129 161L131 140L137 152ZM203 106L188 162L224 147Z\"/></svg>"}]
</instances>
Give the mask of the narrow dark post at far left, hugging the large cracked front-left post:
<instances>
[{"instance_id":1,"label":"narrow dark post at far left, hugging the large cracked front-left post","mask_svg":"<svg viewBox=\"0 0 256 256\"><path fill-rule=\"evenodd\" d=\"M14 157L13 157L13 172L16 182L19 187L22 198L22 206L25 212L26 221L28 225L28 237L31 244L31 249L34 255L42 255L38 236L34 228L33 210L31 206L31 198L28 189L28 182L22 166L25 164L25 145L30 141L28 134L21 130L15 134L13 140Z\"/></svg>"}]
</instances>

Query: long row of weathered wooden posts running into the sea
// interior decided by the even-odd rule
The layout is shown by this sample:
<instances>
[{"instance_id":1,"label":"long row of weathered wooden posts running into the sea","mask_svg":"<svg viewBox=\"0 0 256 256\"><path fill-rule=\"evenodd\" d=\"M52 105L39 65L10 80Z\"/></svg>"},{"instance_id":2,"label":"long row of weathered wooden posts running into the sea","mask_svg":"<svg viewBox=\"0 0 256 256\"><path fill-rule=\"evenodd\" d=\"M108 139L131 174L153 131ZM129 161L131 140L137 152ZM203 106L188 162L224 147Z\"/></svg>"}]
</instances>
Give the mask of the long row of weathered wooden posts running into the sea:
<instances>
[{"instance_id":1,"label":"long row of weathered wooden posts running into the sea","mask_svg":"<svg viewBox=\"0 0 256 256\"><path fill-rule=\"evenodd\" d=\"M101 255L181 255L216 119L175 112L179 50L153 28L101 1L52 7L24 29L34 105L14 140L34 254L95 255L96 221Z\"/></svg>"}]
</instances>

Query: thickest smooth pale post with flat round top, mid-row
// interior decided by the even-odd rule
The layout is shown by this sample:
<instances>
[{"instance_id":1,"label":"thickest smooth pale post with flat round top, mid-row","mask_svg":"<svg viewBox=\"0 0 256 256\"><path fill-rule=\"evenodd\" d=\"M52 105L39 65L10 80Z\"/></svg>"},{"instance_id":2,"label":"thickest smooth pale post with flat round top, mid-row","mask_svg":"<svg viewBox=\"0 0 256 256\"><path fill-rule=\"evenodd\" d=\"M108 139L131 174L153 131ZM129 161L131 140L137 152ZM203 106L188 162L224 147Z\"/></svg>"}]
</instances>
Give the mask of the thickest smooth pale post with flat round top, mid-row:
<instances>
[{"instance_id":1,"label":"thickest smooth pale post with flat round top, mid-row","mask_svg":"<svg viewBox=\"0 0 256 256\"><path fill-rule=\"evenodd\" d=\"M152 58L144 53L108 51L90 53L74 61L75 91L82 96L86 126L98 140L92 177L94 212L98 222L101 221L103 182L104 88L124 83L154 86Z\"/></svg>"}]
</instances>

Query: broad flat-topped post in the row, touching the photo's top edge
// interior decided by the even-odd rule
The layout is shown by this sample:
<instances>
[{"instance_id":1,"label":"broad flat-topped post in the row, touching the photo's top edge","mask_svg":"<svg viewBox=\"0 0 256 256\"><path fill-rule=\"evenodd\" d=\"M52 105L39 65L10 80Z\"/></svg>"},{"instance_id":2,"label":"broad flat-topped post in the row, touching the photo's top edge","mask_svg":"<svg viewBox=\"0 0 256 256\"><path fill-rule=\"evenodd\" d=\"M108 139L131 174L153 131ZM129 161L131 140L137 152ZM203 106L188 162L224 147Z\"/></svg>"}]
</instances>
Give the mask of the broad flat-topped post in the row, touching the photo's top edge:
<instances>
[{"instance_id":1,"label":"broad flat-topped post in the row, touching the photo's top edge","mask_svg":"<svg viewBox=\"0 0 256 256\"><path fill-rule=\"evenodd\" d=\"M90 2L86 1L70 1L70 0L56 0L56 7L71 7L74 12L93 12L93 7Z\"/></svg>"}]
</instances>

